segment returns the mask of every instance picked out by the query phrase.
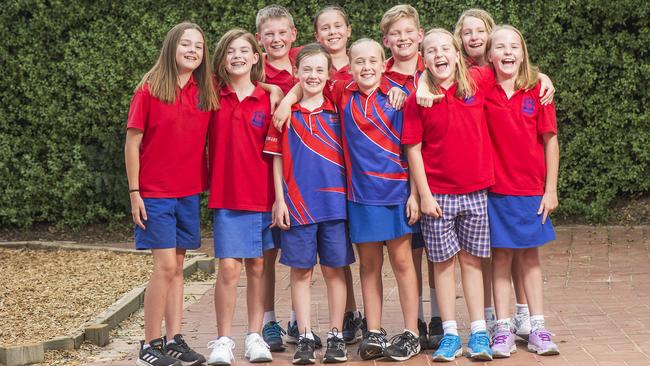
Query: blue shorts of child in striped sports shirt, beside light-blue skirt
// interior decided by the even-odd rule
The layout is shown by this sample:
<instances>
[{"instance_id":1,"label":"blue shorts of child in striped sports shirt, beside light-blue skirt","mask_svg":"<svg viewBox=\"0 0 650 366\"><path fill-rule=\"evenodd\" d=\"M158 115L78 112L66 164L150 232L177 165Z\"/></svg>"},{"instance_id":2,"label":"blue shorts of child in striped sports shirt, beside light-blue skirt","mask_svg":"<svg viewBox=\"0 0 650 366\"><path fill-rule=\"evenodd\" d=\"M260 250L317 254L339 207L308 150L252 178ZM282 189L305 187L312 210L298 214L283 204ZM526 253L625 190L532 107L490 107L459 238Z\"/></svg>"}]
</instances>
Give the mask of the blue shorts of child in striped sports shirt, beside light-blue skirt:
<instances>
[{"instance_id":1,"label":"blue shorts of child in striped sports shirt, beside light-blue skirt","mask_svg":"<svg viewBox=\"0 0 650 366\"><path fill-rule=\"evenodd\" d=\"M321 265L332 268L354 263L348 225L345 220L291 226L280 232L280 263L292 268L312 268L316 254Z\"/></svg>"}]
</instances>

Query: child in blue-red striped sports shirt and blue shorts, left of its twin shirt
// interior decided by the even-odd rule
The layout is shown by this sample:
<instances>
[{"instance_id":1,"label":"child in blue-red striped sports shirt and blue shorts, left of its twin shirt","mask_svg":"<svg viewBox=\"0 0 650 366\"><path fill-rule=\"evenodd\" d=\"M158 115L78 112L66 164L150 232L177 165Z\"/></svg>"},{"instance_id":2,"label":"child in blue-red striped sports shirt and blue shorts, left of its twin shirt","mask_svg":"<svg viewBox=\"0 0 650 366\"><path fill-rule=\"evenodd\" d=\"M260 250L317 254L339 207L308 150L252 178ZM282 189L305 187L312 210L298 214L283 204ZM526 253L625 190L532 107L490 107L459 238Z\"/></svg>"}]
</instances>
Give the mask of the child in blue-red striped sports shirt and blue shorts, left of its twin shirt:
<instances>
[{"instance_id":1,"label":"child in blue-red striped sports shirt and blue shorts, left of its twin shirt","mask_svg":"<svg viewBox=\"0 0 650 366\"><path fill-rule=\"evenodd\" d=\"M354 262L345 212L345 163L336 106L323 96L331 59L317 43L297 58L303 98L279 132L269 128L264 152L274 157L274 225L281 232L280 262L291 267L291 300L300 338L295 364L315 362L311 331L310 282L316 259L327 285L330 331L325 363L347 361L343 329L346 304L344 268Z\"/></svg>"}]
</instances>

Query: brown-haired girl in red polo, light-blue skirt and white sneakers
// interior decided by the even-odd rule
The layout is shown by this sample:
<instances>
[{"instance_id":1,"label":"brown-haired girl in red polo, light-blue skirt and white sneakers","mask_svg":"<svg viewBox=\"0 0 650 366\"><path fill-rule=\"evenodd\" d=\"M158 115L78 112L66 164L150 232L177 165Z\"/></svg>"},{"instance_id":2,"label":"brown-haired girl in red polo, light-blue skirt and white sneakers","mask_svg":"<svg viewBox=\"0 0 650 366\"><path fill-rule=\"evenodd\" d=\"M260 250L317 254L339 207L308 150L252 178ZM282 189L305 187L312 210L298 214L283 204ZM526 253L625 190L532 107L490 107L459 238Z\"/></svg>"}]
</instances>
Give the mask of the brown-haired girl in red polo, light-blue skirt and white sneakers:
<instances>
[{"instance_id":1,"label":"brown-haired girl in red polo, light-blue skirt and white sneakers","mask_svg":"<svg viewBox=\"0 0 650 366\"><path fill-rule=\"evenodd\" d=\"M264 250L275 246L271 225L272 159L262 153L271 121L269 93L259 85L264 70L255 37L233 29L217 44L212 61L220 108L209 131L210 197L214 250L219 259L215 310L219 337L208 344L208 364L233 361L232 321L242 263L246 264L248 334L245 356L272 360L262 329Z\"/></svg>"}]
</instances>

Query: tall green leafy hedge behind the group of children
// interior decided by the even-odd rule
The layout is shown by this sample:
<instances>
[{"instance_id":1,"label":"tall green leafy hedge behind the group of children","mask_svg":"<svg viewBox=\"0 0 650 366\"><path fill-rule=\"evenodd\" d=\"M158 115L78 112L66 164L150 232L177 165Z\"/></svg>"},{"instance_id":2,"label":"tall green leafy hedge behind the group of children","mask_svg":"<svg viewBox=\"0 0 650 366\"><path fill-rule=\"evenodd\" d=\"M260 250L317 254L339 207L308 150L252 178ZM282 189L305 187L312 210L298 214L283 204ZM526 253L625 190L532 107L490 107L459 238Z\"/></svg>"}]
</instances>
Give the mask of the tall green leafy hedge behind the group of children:
<instances>
[{"instance_id":1,"label":"tall green leafy hedge behind the group of children","mask_svg":"<svg viewBox=\"0 0 650 366\"><path fill-rule=\"evenodd\" d=\"M4 1L0 10L0 225L81 227L127 217L124 123L166 31L200 24L211 45L254 30L267 1ZM324 2L279 1L300 43ZM396 2L339 2L353 37L379 39ZM519 27L555 82L564 216L598 222L615 200L650 190L650 5L586 0L411 2L424 28L450 29L470 6ZM214 46L211 46L214 49Z\"/></svg>"}]
</instances>

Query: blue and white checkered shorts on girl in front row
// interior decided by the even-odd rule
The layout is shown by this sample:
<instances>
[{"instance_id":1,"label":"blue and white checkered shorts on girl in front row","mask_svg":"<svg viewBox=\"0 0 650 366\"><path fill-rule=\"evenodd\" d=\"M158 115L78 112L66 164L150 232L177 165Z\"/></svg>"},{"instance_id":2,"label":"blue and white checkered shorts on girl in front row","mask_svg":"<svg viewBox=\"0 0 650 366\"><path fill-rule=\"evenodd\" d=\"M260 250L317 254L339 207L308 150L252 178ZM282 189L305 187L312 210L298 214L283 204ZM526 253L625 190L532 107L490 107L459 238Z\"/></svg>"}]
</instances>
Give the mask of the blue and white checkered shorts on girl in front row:
<instances>
[{"instance_id":1,"label":"blue and white checkered shorts on girl in front row","mask_svg":"<svg viewBox=\"0 0 650 366\"><path fill-rule=\"evenodd\" d=\"M471 255L490 256L490 225L487 191L467 194L433 194L442 208L442 217L423 215L422 234L432 262L444 262L461 249Z\"/></svg>"}]
</instances>

